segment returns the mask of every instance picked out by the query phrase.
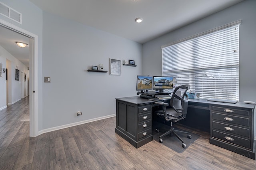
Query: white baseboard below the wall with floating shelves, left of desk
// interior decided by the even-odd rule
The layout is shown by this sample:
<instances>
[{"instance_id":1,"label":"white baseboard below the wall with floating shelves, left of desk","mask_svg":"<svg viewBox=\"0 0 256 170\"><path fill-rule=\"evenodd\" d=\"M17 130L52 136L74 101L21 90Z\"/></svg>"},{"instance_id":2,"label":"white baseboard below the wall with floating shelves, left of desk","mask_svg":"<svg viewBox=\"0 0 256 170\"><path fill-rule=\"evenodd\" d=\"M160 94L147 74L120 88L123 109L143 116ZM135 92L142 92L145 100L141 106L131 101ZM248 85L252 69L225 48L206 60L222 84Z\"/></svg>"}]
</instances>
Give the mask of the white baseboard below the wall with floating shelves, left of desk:
<instances>
[{"instance_id":1,"label":"white baseboard below the wall with floating shelves, left of desk","mask_svg":"<svg viewBox=\"0 0 256 170\"><path fill-rule=\"evenodd\" d=\"M70 124L62 125L62 126L58 126L58 127L47 128L47 129L40 130L38 132L38 135L43 134L43 133L47 133L47 132L52 132L52 131L55 131L55 130L60 130L60 129L63 129L63 128L74 127L74 126L82 125L82 124L85 124L85 123L99 121L99 120L102 120L102 119L107 119L107 118L115 117L115 116L116 116L116 114L113 114L113 115L108 115L108 116L104 116L104 117L98 117L98 118L94 118L94 119L90 119L90 120L86 120L86 121L70 123Z\"/></svg>"}]
</instances>

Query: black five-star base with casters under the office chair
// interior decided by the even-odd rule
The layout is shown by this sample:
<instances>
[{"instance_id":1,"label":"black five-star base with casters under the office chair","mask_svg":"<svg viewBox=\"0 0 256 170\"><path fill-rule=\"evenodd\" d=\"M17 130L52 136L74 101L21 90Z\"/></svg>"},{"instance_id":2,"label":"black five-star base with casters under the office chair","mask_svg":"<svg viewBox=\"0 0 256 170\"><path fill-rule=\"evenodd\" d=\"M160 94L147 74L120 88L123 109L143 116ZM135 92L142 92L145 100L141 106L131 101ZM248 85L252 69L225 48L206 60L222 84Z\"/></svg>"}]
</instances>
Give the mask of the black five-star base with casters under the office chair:
<instances>
[{"instance_id":1,"label":"black five-star base with casters under the office chair","mask_svg":"<svg viewBox=\"0 0 256 170\"><path fill-rule=\"evenodd\" d=\"M156 128L156 132L159 132L160 130L158 128ZM181 131L181 130L174 130L174 128L172 127L172 122L170 122L170 129L166 132L164 132L163 134L161 134L159 136L159 139L158 141L160 143L162 143L164 140L162 139L162 137L164 136L167 136L168 134L170 134L172 136L172 134L174 134L174 136L176 136L176 138L178 138L181 142L182 142L182 148L186 148L187 145L184 143L184 140L176 133L176 132L182 132L182 133L186 133L188 134L187 135L187 138L191 139L192 136L189 134L189 132L184 132L184 131Z\"/></svg>"}]
</instances>

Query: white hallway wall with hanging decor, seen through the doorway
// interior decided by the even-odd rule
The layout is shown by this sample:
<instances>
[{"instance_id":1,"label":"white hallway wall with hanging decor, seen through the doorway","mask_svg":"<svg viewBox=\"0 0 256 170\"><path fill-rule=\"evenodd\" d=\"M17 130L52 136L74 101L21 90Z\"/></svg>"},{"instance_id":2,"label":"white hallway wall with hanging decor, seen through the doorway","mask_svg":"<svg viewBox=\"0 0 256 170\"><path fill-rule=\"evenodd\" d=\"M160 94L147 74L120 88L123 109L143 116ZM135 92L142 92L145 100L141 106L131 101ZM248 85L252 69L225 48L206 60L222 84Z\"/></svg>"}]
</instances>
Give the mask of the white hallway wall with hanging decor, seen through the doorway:
<instances>
[{"instance_id":1,"label":"white hallway wall with hanging decor, seen through the doorway","mask_svg":"<svg viewBox=\"0 0 256 170\"><path fill-rule=\"evenodd\" d=\"M0 109L4 108L6 106L6 103L8 104L14 104L15 102L19 101L22 96L21 96L21 72L23 71L24 73L28 73L27 67L21 63L18 59L16 59L14 56L12 56L8 51L6 51L2 46L0 46L0 63L2 63L3 68L6 68L6 59L10 61L10 66L8 66L8 83L9 83L9 90L10 92L8 93L9 97L8 100L6 101L6 73L2 73L3 77L0 77ZM15 69L20 70L20 80L16 81L15 80ZM24 82L26 84L26 82Z\"/></svg>"}]
</instances>

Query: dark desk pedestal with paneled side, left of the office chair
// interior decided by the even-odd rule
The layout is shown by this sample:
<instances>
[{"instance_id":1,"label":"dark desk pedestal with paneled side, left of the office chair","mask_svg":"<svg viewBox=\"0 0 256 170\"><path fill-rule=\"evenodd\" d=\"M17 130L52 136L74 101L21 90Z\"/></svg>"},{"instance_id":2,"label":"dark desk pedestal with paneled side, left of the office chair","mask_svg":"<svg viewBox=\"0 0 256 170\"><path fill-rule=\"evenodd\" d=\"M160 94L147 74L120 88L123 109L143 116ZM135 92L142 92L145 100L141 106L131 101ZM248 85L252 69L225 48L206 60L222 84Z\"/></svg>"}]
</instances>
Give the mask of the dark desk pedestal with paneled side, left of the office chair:
<instances>
[{"instance_id":1,"label":"dark desk pedestal with paneled side, left of the office chair","mask_svg":"<svg viewBox=\"0 0 256 170\"><path fill-rule=\"evenodd\" d=\"M152 101L138 97L116 99L116 133L136 148L152 141Z\"/></svg>"}]
</instances>

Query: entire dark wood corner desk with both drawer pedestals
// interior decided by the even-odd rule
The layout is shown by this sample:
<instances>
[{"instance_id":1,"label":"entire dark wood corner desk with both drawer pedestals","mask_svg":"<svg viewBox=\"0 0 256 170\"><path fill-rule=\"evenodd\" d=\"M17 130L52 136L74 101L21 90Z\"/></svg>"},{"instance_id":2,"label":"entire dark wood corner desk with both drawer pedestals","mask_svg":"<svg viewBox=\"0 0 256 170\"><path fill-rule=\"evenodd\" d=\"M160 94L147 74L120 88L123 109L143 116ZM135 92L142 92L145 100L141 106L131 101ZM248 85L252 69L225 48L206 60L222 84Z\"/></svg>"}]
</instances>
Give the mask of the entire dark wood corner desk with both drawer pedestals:
<instances>
[{"instance_id":1,"label":"entire dark wood corner desk with both drawer pedestals","mask_svg":"<svg viewBox=\"0 0 256 170\"><path fill-rule=\"evenodd\" d=\"M134 147L153 140L154 101L136 97L116 98L116 133ZM255 159L255 104L220 103L188 99L188 114L182 124L210 132L210 143Z\"/></svg>"}]
</instances>

